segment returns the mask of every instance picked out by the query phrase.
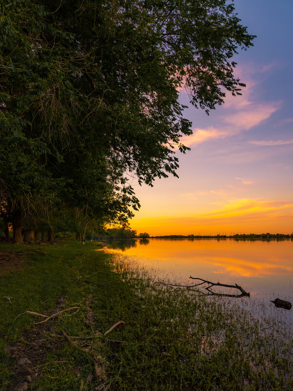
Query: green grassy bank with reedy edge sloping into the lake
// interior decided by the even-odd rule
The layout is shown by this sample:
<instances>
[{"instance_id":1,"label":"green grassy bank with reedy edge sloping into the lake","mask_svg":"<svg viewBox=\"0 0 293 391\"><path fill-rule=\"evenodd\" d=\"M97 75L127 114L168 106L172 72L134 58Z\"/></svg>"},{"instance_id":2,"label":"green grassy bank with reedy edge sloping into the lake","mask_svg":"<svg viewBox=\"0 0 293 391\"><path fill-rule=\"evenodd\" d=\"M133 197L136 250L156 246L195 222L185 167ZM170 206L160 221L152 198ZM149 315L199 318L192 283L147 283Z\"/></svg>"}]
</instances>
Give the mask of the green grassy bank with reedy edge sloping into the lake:
<instances>
[{"instance_id":1,"label":"green grassy bank with reedy edge sloping into the lake","mask_svg":"<svg viewBox=\"0 0 293 391\"><path fill-rule=\"evenodd\" d=\"M225 300L156 287L97 248L0 247L1 390L293 389L286 330ZM24 313L71 307L38 325L46 318Z\"/></svg>"}]
</instances>

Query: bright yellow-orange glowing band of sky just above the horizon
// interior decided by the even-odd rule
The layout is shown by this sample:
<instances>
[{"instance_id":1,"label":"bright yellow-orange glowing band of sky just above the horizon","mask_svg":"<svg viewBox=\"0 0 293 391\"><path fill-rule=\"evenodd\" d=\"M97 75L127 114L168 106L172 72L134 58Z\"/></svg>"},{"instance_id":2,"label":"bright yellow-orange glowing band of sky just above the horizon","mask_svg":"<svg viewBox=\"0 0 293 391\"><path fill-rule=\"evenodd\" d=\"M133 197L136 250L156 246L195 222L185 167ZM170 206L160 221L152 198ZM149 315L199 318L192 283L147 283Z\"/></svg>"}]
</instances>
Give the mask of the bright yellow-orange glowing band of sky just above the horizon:
<instances>
[{"instance_id":1,"label":"bright yellow-orange glowing band of sky just above the horizon","mask_svg":"<svg viewBox=\"0 0 293 391\"><path fill-rule=\"evenodd\" d=\"M213 205L215 206L215 205ZM190 214L189 214L190 213ZM131 221L132 229L156 235L215 235L218 233L291 233L293 202L262 199L228 201L209 212L172 215L153 215Z\"/></svg>"}]
</instances>

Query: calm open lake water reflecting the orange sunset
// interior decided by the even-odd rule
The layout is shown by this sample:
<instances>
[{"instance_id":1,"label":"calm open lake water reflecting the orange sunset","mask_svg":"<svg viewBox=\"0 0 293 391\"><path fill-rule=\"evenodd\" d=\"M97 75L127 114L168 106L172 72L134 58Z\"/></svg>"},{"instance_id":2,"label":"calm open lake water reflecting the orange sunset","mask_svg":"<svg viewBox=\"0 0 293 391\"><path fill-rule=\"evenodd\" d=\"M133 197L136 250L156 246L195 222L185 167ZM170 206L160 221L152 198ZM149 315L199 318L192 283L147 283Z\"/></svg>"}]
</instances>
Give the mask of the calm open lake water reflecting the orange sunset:
<instances>
[{"instance_id":1,"label":"calm open lake water reflecting the orange sunset","mask_svg":"<svg viewBox=\"0 0 293 391\"><path fill-rule=\"evenodd\" d=\"M270 300L293 303L293 242L216 239L149 239L109 241L110 252L156 270L158 280L192 284L189 276L213 282L238 284L250 292L241 300L258 303L264 311L292 321L292 310L275 309ZM239 293L235 290L234 293Z\"/></svg>"}]
</instances>

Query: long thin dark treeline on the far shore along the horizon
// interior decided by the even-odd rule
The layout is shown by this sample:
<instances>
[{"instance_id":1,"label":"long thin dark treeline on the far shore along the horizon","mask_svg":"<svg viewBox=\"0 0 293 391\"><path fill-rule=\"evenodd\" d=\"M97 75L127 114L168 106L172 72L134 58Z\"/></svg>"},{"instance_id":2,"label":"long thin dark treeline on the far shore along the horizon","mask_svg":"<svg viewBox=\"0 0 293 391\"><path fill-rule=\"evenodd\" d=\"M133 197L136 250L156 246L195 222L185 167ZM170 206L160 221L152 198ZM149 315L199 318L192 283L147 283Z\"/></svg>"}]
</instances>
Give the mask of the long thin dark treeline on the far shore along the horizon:
<instances>
[{"instance_id":1,"label":"long thin dark treeline on the far shore along the horizon","mask_svg":"<svg viewBox=\"0 0 293 391\"><path fill-rule=\"evenodd\" d=\"M151 238L155 239L261 239L261 240L268 240L268 239L293 239L293 233L286 234L286 233L242 233L242 234L234 234L234 235L163 235L163 236L151 236Z\"/></svg>"}]
</instances>

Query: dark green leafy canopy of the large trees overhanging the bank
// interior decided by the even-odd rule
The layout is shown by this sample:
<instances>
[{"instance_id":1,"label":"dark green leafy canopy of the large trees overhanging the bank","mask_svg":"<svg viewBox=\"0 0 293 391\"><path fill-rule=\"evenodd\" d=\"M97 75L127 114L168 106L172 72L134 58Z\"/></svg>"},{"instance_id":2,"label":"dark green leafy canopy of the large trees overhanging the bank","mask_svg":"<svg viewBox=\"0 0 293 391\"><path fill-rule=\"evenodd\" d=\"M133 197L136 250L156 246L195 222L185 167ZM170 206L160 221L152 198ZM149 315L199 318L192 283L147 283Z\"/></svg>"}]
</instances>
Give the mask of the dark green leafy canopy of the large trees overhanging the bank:
<instances>
[{"instance_id":1,"label":"dark green leafy canopy of the large trees overhanging the bank","mask_svg":"<svg viewBox=\"0 0 293 391\"><path fill-rule=\"evenodd\" d=\"M177 176L188 149L180 89L208 113L244 86L234 55L254 37L240 22L226 0L3 0L0 206L14 231L127 225L127 176Z\"/></svg>"}]
</instances>

